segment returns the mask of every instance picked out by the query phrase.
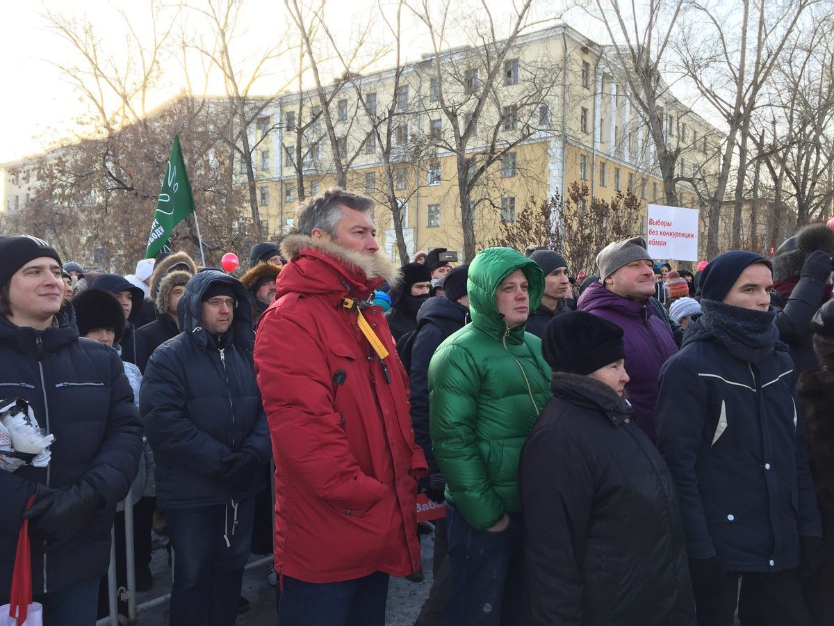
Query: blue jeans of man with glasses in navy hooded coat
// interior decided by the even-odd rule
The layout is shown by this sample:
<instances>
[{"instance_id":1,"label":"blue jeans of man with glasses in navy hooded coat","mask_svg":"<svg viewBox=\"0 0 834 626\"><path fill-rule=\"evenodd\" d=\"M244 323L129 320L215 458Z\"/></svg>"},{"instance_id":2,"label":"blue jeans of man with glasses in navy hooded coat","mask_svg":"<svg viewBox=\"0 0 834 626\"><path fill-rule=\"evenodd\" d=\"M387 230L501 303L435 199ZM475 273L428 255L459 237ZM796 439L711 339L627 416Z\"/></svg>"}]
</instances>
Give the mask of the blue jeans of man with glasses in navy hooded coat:
<instances>
[{"instance_id":1,"label":"blue jeans of man with glasses in navy hooded coat","mask_svg":"<svg viewBox=\"0 0 834 626\"><path fill-rule=\"evenodd\" d=\"M228 506L169 508L165 518L173 548L168 623L233 626L252 545L254 497L238 503L236 526L231 502Z\"/></svg>"}]
</instances>

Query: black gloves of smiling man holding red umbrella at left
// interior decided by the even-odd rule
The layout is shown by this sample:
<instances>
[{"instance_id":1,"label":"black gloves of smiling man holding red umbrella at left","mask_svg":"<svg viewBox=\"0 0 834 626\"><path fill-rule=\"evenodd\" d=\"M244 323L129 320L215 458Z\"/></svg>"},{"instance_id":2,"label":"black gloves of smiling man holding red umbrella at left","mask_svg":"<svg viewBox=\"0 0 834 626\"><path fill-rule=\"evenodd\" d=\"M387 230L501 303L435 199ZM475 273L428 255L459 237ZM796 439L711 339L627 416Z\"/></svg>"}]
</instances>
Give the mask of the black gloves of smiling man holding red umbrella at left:
<instances>
[{"instance_id":1,"label":"black gloves of smiling man holding red umbrella at left","mask_svg":"<svg viewBox=\"0 0 834 626\"><path fill-rule=\"evenodd\" d=\"M103 497L86 481L59 489L38 485L35 502L23 517L33 537L58 543L86 530L103 507Z\"/></svg>"}]
</instances>

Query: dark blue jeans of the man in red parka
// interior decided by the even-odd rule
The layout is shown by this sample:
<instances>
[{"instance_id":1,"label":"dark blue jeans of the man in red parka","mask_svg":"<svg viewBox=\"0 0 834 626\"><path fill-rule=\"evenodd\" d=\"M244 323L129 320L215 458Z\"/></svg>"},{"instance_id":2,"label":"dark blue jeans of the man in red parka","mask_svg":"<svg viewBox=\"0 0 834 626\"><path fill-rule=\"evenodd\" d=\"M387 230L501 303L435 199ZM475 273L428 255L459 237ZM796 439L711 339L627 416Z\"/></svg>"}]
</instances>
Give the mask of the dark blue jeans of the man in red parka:
<instances>
[{"instance_id":1,"label":"dark blue jeans of the man in red parka","mask_svg":"<svg viewBox=\"0 0 834 626\"><path fill-rule=\"evenodd\" d=\"M285 576L278 591L278 623L287 626L385 626L388 574L374 572L339 583L304 583Z\"/></svg>"}]
</instances>

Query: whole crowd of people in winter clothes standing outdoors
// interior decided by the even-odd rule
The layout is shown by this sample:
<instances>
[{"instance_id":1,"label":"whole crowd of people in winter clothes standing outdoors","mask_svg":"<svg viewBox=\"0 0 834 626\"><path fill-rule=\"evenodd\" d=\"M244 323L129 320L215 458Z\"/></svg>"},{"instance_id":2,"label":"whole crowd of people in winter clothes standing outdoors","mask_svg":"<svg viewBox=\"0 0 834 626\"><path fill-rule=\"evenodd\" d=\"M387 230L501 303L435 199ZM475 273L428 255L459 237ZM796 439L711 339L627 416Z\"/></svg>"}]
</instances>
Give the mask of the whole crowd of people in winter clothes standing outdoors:
<instances>
[{"instance_id":1,"label":"whole crowd of people in winter clothes standing outdoors","mask_svg":"<svg viewBox=\"0 0 834 626\"><path fill-rule=\"evenodd\" d=\"M0 237L0 404L54 436L0 467L0 603L26 519L44 623L93 624L129 499L169 623L231 626L271 552L277 623L383 626L425 493L421 626L834 623L834 230L696 272L640 236L593 275L535 246L398 268L373 207L309 199L239 279Z\"/></svg>"}]
</instances>

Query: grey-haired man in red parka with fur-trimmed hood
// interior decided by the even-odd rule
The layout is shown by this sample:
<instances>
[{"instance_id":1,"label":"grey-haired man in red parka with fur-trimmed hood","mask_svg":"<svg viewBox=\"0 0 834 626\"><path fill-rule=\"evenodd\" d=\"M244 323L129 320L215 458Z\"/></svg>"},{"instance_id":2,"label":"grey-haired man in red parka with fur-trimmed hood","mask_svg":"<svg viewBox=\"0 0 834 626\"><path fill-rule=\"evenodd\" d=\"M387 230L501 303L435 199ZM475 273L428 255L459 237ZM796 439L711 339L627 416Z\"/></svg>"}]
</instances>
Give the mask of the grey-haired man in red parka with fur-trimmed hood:
<instances>
[{"instance_id":1,"label":"grey-haired man in red parka with fur-trimmed hood","mask_svg":"<svg viewBox=\"0 0 834 626\"><path fill-rule=\"evenodd\" d=\"M374 289L372 200L329 189L304 204L255 340L275 458L279 622L384 626L389 575L420 566L408 378Z\"/></svg>"}]
</instances>

